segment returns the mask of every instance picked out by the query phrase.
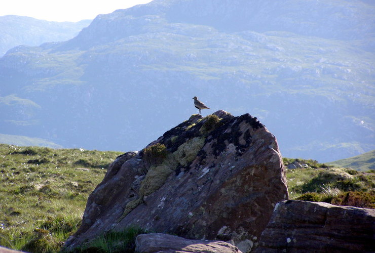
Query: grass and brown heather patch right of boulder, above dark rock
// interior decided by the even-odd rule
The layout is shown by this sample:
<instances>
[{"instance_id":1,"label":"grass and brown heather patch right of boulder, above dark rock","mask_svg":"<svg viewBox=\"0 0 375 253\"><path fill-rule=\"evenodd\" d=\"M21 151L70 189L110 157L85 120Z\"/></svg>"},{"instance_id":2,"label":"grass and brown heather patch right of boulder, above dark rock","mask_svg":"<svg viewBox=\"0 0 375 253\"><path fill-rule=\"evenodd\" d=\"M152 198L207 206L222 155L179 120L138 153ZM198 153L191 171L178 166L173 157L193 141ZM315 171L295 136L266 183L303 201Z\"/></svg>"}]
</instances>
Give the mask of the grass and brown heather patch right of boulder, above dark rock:
<instances>
[{"instance_id":1,"label":"grass and brown heather patch right of boulder, above dark rock","mask_svg":"<svg viewBox=\"0 0 375 253\"><path fill-rule=\"evenodd\" d=\"M375 208L375 173L348 168L287 169L289 198Z\"/></svg>"}]
</instances>

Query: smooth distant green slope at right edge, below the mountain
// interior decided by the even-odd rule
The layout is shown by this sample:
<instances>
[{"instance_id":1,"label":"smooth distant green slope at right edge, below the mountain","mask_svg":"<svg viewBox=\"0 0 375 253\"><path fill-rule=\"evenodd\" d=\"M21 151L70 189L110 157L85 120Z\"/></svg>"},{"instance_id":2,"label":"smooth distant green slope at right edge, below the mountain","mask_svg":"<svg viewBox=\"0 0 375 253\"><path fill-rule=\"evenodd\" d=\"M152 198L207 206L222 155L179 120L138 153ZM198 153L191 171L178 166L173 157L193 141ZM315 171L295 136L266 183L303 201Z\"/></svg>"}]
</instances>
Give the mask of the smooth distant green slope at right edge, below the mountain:
<instances>
[{"instance_id":1,"label":"smooth distant green slope at right edge, below the mountain","mask_svg":"<svg viewBox=\"0 0 375 253\"><path fill-rule=\"evenodd\" d=\"M375 170L375 150L346 159L328 162L327 164L349 167L357 171Z\"/></svg>"}]
</instances>

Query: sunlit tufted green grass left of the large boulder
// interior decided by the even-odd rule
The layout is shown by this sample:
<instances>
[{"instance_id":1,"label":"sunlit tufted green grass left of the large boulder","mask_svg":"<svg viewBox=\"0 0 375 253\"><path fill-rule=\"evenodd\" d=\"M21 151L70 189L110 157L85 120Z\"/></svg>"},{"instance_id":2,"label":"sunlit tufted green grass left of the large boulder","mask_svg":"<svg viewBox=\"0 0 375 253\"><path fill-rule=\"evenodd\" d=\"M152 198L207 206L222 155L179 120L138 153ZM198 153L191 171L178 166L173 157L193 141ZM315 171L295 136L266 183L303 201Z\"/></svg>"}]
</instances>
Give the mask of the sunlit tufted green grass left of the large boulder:
<instances>
[{"instance_id":1,"label":"sunlit tufted green grass left of the large boulder","mask_svg":"<svg viewBox=\"0 0 375 253\"><path fill-rule=\"evenodd\" d=\"M0 245L58 252L119 154L0 144Z\"/></svg>"}]
</instances>

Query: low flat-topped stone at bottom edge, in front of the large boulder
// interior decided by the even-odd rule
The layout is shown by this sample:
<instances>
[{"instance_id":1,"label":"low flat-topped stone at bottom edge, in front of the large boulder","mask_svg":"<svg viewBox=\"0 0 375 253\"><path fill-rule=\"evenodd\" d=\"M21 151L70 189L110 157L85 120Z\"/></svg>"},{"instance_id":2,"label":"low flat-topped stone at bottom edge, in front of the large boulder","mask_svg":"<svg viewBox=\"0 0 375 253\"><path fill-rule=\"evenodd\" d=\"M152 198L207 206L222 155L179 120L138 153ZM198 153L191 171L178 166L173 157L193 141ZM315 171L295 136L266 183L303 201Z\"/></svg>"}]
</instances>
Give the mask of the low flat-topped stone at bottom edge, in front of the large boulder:
<instances>
[{"instance_id":1,"label":"low flat-topped stone at bottom edge, in front of the large boulder","mask_svg":"<svg viewBox=\"0 0 375 253\"><path fill-rule=\"evenodd\" d=\"M135 240L139 253L242 253L236 246L223 241L189 240L169 234L141 234Z\"/></svg>"}]
</instances>

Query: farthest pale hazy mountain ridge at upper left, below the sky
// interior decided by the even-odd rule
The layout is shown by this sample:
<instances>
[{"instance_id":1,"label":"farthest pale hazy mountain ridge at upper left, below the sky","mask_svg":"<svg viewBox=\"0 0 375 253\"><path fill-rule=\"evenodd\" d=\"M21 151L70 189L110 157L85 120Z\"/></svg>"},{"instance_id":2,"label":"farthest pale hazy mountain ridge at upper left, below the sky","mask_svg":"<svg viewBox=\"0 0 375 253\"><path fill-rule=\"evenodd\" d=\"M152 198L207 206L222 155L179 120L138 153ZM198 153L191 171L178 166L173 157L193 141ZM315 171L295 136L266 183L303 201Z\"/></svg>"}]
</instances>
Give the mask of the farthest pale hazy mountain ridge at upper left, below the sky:
<instances>
[{"instance_id":1,"label":"farthest pale hazy mountain ridge at upper left, below the sky","mask_svg":"<svg viewBox=\"0 0 375 253\"><path fill-rule=\"evenodd\" d=\"M19 45L39 46L46 42L65 41L90 23L91 20L50 22L16 15L1 16L0 56Z\"/></svg>"}]
</instances>

